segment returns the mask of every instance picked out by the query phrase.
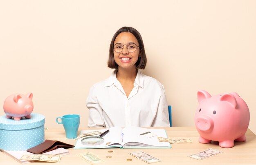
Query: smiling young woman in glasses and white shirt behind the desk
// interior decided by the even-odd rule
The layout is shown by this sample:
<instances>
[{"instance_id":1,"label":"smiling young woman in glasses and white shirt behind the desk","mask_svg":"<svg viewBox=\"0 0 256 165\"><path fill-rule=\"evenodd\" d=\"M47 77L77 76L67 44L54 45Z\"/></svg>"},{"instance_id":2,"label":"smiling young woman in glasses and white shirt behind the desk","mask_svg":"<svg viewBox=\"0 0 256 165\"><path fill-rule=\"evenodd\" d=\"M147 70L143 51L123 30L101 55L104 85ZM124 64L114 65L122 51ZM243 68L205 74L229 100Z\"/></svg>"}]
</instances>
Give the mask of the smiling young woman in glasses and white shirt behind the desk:
<instances>
[{"instance_id":1,"label":"smiling young woman in glasses and white shirt behind the desk","mask_svg":"<svg viewBox=\"0 0 256 165\"><path fill-rule=\"evenodd\" d=\"M108 67L112 75L93 85L86 100L88 127L169 127L164 87L141 74L146 54L140 33L122 27L112 38Z\"/></svg>"}]
</instances>

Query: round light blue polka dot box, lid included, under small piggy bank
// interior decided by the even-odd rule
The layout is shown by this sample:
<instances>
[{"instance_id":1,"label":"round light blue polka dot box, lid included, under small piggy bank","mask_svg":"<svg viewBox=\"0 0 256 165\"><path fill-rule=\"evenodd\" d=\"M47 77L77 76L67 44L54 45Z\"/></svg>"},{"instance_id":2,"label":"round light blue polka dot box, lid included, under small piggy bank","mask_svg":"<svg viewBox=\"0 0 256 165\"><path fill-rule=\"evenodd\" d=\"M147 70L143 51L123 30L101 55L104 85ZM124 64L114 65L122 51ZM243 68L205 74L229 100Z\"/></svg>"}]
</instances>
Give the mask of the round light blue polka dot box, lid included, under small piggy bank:
<instances>
[{"instance_id":1,"label":"round light blue polka dot box, lid included, under small piggy bank","mask_svg":"<svg viewBox=\"0 0 256 165\"><path fill-rule=\"evenodd\" d=\"M31 114L31 118L15 121L0 116L0 149L23 151L45 141L45 116Z\"/></svg>"}]
</instances>

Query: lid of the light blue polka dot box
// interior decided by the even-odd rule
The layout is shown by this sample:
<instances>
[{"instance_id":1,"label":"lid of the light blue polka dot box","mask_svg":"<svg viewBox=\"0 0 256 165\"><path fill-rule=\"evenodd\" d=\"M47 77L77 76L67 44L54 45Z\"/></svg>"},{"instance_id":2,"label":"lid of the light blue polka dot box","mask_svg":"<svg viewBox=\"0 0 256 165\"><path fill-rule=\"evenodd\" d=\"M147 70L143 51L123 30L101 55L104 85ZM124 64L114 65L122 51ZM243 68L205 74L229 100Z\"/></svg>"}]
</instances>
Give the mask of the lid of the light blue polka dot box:
<instances>
[{"instance_id":1,"label":"lid of the light blue polka dot box","mask_svg":"<svg viewBox=\"0 0 256 165\"><path fill-rule=\"evenodd\" d=\"M6 116L0 116L0 129L5 130L23 130L40 127L45 124L45 116L41 114L30 114L31 118L22 118L21 120L14 120L6 118Z\"/></svg>"}]
</instances>

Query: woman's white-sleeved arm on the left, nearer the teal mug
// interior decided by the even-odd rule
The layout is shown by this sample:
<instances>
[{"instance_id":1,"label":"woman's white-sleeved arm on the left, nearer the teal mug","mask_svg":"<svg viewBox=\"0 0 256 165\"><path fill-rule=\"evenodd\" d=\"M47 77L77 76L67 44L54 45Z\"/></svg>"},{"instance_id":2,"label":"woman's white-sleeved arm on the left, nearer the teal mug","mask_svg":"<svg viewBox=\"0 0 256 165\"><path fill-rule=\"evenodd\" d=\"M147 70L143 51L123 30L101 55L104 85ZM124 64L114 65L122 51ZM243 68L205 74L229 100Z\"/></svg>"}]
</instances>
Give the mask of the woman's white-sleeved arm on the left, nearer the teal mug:
<instances>
[{"instance_id":1,"label":"woman's white-sleeved arm on the left, nearer the teal mug","mask_svg":"<svg viewBox=\"0 0 256 165\"><path fill-rule=\"evenodd\" d=\"M92 86L89 91L86 107L89 109L88 127L106 127L103 119L103 110L95 95L95 86Z\"/></svg>"}]
</instances>

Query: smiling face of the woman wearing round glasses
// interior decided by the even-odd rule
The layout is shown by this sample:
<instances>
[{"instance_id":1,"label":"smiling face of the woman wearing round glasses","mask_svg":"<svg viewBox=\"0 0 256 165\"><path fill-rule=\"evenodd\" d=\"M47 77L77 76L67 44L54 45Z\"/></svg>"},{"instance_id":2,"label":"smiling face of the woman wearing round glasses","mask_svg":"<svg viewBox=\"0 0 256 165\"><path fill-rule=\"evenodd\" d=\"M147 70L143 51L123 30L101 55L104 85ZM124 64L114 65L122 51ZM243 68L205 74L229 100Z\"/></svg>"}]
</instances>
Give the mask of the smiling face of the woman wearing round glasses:
<instances>
[{"instance_id":1,"label":"smiling face of the woman wearing round glasses","mask_svg":"<svg viewBox=\"0 0 256 165\"><path fill-rule=\"evenodd\" d=\"M120 53L117 53L114 51L114 59L115 62L118 65L118 68L124 68L124 69L135 69L136 62L139 58L139 47L133 48L136 49L134 52L129 52L127 49L127 45L129 44L135 44L137 46L139 45L138 40L135 38L135 36L130 32L122 32L120 33L117 38L115 39L114 45L121 44L123 45L123 50ZM115 49L115 46L114 46Z\"/></svg>"}]
</instances>

